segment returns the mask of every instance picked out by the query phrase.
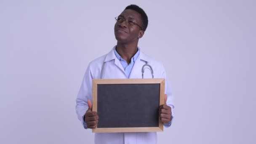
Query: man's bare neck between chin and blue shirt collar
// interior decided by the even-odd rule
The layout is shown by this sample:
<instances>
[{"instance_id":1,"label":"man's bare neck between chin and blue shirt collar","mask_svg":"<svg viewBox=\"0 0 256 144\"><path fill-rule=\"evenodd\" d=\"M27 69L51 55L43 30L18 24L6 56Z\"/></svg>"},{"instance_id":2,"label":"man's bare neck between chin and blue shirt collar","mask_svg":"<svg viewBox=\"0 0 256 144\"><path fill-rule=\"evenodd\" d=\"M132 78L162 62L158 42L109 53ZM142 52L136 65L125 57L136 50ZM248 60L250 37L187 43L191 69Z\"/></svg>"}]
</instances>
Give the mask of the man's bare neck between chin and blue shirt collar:
<instances>
[{"instance_id":1,"label":"man's bare neck between chin and blue shirt collar","mask_svg":"<svg viewBox=\"0 0 256 144\"><path fill-rule=\"evenodd\" d=\"M117 53L127 62L131 63L131 58L138 51L138 43L123 44L117 42Z\"/></svg>"}]
</instances>

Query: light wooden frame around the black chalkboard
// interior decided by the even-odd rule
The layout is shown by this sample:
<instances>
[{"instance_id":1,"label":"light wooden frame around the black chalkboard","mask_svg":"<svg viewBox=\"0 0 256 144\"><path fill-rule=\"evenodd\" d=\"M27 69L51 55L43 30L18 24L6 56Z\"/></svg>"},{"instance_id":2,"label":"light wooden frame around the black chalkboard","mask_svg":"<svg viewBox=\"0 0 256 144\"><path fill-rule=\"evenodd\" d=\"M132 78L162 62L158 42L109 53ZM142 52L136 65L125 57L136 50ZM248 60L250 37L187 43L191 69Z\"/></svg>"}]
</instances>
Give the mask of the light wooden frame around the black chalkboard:
<instances>
[{"instance_id":1,"label":"light wooden frame around the black chalkboard","mask_svg":"<svg viewBox=\"0 0 256 144\"><path fill-rule=\"evenodd\" d=\"M160 84L159 106L164 104L165 79L93 79L93 111L97 112L97 87L98 84ZM163 123L159 118L158 127L135 127L135 128L94 128L93 133L114 132L152 132L163 131Z\"/></svg>"}]
</instances>

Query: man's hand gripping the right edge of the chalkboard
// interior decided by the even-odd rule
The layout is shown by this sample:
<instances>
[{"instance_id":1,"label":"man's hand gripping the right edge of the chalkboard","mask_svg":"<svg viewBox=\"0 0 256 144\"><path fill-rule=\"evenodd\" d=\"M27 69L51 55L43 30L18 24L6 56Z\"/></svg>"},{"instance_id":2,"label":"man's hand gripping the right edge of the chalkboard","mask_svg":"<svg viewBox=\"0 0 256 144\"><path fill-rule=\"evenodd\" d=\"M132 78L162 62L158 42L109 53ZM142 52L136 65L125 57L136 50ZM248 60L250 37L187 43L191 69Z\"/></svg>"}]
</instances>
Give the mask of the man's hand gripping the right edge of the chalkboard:
<instances>
[{"instance_id":1,"label":"man's hand gripping the right edge of the chalkboard","mask_svg":"<svg viewBox=\"0 0 256 144\"><path fill-rule=\"evenodd\" d=\"M167 101L167 95L165 94L165 104L162 104L159 107L160 120L164 124L168 124L171 121L171 107L166 105L166 101Z\"/></svg>"}]
</instances>

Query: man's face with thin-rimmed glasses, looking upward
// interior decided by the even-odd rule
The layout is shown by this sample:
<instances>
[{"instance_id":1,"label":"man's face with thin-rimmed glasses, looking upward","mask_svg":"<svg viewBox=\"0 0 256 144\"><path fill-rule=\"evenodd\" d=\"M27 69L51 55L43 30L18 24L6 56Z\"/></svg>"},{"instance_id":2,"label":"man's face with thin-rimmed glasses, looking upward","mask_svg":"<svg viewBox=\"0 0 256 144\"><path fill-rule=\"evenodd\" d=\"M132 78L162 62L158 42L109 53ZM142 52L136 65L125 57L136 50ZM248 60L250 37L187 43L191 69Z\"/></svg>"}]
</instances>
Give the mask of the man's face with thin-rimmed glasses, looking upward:
<instances>
[{"instance_id":1,"label":"man's face with thin-rimmed glasses, looking upward","mask_svg":"<svg viewBox=\"0 0 256 144\"><path fill-rule=\"evenodd\" d=\"M141 15L131 9L124 10L117 19L125 19L123 22L116 22L115 24L115 38L121 43L133 43L141 38L144 31L139 26L142 26ZM136 24L132 24L136 22Z\"/></svg>"}]
</instances>

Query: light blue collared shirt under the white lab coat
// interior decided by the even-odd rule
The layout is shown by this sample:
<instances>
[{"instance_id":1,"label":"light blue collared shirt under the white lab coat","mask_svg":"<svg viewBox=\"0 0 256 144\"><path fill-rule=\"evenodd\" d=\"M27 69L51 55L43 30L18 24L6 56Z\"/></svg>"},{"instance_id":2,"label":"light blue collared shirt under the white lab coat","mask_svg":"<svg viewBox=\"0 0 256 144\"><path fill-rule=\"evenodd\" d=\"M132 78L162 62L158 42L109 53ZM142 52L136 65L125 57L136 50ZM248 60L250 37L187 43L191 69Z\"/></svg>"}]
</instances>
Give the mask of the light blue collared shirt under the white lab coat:
<instances>
[{"instance_id":1,"label":"light blue collared shirt under the white lab coat","mask_svg":"<svg viewBox=\"0 0 256 144\"><path fill-rule=\"evenodd\" d=\"M130 64L127 64L127 62L117 53L116 48L114 49L114 52L115 52L115 56L117 57L117 59L119 59L120 63L122 64L127 78L129 78L130 74L131 74L131 70L133 69L133 65L134 65L136 59L139 56L139 48L138 48L137 53L135 53L135 55L131 58L131 63Z\"/></svg>"}]
</instances>

